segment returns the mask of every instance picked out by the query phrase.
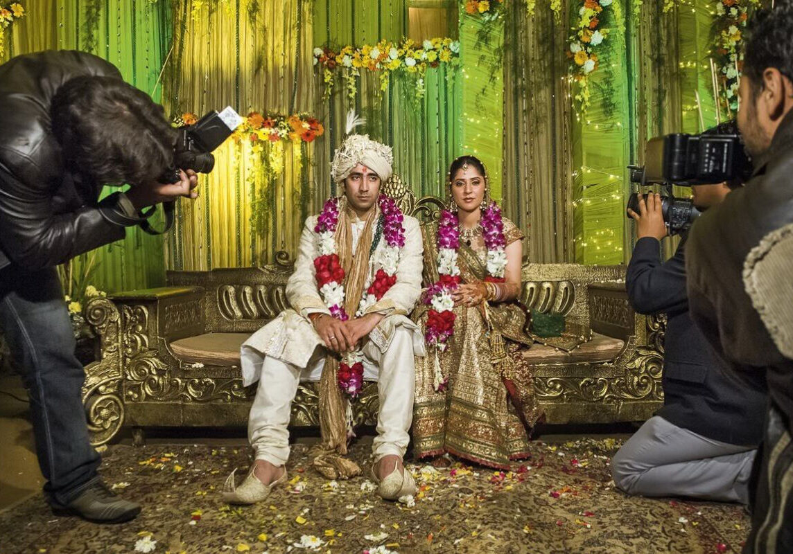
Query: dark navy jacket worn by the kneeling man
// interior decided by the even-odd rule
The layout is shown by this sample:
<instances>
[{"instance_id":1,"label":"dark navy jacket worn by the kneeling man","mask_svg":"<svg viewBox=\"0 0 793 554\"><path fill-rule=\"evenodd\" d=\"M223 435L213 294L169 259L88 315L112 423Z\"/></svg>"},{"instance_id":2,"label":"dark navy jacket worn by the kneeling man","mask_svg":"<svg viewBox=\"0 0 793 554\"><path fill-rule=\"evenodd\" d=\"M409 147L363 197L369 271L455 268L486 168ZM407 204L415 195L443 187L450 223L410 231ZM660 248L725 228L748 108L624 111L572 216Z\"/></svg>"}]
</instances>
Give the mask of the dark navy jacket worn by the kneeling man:
<instances>
[{"instance_id":1,"label":"dark navy jacket worn by the kneeling man","mask_svg":"<svg viewBox=\"0 0 793 554\"><path fill-rule=\"evenodd\" d=\"M726 374L688 312L684 237L672 258L661 263L660 243L639 239L627 270L630 304L642 314L667 315L664 407L657 415L714 441L757 445L763 434L768 395L764 380L742 384Z\"/></svg>"}]
</instances>

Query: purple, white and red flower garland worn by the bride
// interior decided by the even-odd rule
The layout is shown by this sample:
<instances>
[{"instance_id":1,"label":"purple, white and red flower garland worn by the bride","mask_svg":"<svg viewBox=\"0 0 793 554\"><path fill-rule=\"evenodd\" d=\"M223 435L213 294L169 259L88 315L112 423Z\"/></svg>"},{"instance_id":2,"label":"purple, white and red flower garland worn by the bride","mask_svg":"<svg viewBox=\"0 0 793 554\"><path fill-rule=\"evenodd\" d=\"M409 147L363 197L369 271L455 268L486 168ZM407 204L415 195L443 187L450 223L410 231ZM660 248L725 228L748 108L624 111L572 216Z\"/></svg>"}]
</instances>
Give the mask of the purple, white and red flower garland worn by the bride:
<instances>
[{"instance_id":1,"label":"purple, white and red flower garland worn by the bride","mask_svg":"<svg viewBox=\"0 0 793 554\"><path fill-rule=\"evenodd\" d=\"M504 250L507 241L504 239L504 221L501 220L501 208L492 202L482 211L479 224L482 227L482 238L488 250L485 260L488 276L485 281L503 283L507 268L507 253ZM458 217L450 210L441 212L438 224L438 273L435 282L424 295L424 303L431 306L427 314L427 325L424 339L429 346L435 346L441 352L446 350L446 342L454 334L454 300L451 291L460 285L460 268L457 263L460 248L460 223ZM433 386L441 392L448 384L448 376L443 376L440 364L435 365Z\"/></svg>"}]
</instances>

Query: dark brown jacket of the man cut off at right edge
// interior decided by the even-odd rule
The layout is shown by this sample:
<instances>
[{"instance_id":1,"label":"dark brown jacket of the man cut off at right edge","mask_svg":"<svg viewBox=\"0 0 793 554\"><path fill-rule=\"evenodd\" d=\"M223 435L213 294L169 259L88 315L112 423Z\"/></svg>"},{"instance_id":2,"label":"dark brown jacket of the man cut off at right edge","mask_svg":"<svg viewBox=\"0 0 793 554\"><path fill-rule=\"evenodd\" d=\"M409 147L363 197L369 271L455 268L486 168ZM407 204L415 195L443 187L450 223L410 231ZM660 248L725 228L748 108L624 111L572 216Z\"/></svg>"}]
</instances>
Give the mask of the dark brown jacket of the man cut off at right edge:
<instances>
[{"instance_id":1,"label":"dark brown jacket of the man cut off at right edge","mask_svg":"<svg viewBox=\"0 0 793 554\"><path fill-rule=\"evenodd\" d=\"M745 187L694 225L686 253L688 296L695 322L736 373L767 373L768 394L793 429L793 361L774 345L743 282L749 251L769 232L793 223L793 110L754 167ZM790 281L780 286L789 288Z\"/></svg>"}]
</instances>

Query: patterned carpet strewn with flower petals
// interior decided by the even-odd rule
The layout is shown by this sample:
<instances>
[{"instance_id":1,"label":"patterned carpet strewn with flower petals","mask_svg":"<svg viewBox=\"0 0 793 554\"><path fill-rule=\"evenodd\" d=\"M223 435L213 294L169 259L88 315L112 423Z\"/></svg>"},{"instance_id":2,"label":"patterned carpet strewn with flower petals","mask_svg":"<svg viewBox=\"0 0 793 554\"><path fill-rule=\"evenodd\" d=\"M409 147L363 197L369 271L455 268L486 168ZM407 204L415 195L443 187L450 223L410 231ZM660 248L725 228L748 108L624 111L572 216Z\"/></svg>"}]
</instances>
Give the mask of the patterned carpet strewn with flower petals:
<instances>
[{"instance_id":1,"label":"patterned carpet strewn with flower petals","mask_svg":"<svg viewBox=\"0 0 793 554\"><path fill-rule=\"evenodd\" d=\"M56 518L37 495L0 513L0 553L59 552L740 552L749 519L740 506L631 499L615 491L613 439L534 443L515 472L412 465L415 504L383 502L366 478L328 482L296 445L289 485L262 505L230 508L219 490L247 449L184 445L104 453L102 472L144 504L133 522ZM353 445L365 467L370 441ZM238 475L238 479L241 476Z\"/></svg>"}]
</instances>

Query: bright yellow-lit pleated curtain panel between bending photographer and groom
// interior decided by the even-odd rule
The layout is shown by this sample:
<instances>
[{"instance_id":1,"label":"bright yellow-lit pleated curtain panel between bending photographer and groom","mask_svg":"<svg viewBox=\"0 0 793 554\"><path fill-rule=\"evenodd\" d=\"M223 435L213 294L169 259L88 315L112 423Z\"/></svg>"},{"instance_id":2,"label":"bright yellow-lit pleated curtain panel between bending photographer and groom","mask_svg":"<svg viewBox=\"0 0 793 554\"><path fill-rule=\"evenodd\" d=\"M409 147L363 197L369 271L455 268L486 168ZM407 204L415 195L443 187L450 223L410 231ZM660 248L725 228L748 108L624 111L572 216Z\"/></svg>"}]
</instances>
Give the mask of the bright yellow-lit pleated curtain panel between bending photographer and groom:
<instances>
[{"instance_id":1,"label":"bright yellow-lit pleated curtain panel between bending photographer and groom","mask_svg":"<svg viewBox=\"0 0 793 554\"><path fill-rule=\"evenodd\" d=\"M231 105L243 116L319 116L311 36L311 3L304 0L174 2L168 112L200 117ZM213 172L201 176L201 197L178 204L167 268L256 266L273 262L278 250L295 254L303 220L324 195L313 177L314 149L282 141L253 156L247 140L224 143Z\"/></svg>"}]
</instances>

